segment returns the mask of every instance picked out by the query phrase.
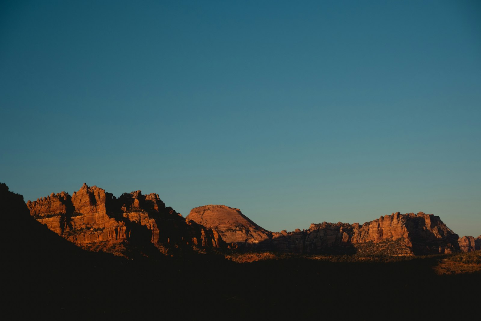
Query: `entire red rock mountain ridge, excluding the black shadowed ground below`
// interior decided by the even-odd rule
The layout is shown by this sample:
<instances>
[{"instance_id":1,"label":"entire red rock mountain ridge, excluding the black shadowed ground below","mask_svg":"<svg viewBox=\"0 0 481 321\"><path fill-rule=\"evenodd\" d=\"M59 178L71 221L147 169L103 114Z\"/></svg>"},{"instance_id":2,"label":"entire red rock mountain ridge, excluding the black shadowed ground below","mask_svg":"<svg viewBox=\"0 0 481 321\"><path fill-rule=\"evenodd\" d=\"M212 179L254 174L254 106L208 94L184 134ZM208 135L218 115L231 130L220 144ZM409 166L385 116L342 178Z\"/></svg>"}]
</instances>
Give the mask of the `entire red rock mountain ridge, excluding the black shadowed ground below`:
<instances>
[{"instance_id":1,"label":"entire red rock mountain ridge, excluding the black shadowed ground below","mask_svg":"<svg viewBox=\"0 0 481 321\"><path fill-rule=\"evenodd\" d=\"M366 222L318 223L272 232L238 208L205 205L183 218L158 194L118 198L87 184L73 195L51 193L26 206L32 217L88 250L120 256L181 255L208 249L299 254L412 256L480 249L481 236L460 238L432 214L399 212Z\"/></svg>"}]
</instances>

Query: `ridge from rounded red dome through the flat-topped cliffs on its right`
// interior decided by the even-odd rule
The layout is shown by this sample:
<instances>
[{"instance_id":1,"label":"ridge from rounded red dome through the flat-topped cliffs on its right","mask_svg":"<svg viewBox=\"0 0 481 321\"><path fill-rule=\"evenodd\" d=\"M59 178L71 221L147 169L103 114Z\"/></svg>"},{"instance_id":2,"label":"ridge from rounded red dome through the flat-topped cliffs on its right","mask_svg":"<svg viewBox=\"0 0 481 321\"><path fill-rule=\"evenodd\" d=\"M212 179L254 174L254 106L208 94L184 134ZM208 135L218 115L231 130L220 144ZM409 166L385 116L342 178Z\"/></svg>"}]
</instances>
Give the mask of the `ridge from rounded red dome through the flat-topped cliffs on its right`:
<instances>
[{"instance_id":1,"label":"ridge from rounded red dome through the flat-topped cliffs on its right","mask_svg":"<svg viewBox=\"0 0 481 321\"><path fill-rule=\"evenodd\" d=\"M432 214L399 212L364 224L311 224L307 230L271 232L237 208L206 205L191 210L190 220L217 231L231 246L243 250L305 254L422 255L475 249ZM459 239L461 240L461 239Z\"/></svg>"}]
</instances>

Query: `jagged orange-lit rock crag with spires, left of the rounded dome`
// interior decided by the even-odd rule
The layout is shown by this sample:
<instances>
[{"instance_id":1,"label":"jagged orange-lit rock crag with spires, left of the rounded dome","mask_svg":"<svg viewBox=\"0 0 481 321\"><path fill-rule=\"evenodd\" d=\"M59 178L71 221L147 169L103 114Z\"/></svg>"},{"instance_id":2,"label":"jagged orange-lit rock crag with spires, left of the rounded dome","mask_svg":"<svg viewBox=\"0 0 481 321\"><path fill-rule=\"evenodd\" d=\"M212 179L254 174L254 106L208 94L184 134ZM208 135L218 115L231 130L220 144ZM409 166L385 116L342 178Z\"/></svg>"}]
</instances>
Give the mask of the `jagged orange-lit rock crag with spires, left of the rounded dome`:
<instances>
[{"instance_id":1,"label":"jagged orange-lit rock crag with spires, left of the rounded dome","mask_svg":"<svg viewBox=\"0 0 481 321\"><path fill-rule=\"evenodd\" d=\"M72 196L51 193L26 205L30 215L52 231L83 247L95 245L97 250L108 252L113 244L125 242L151 243L162 253L221 244L217 233L189 223L155 193L135 191L117 199L84 183Z\"/></svg>"}]
</instances>

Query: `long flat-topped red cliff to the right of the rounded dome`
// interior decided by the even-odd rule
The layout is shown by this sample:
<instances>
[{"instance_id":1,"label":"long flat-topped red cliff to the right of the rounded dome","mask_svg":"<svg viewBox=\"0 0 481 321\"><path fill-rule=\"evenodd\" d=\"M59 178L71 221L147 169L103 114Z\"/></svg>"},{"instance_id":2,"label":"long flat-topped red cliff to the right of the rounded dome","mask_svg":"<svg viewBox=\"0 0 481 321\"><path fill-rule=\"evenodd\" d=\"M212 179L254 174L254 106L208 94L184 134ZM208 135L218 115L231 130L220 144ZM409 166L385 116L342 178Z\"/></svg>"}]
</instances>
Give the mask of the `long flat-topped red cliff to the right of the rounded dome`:
<instances>
[{"instance_id":1,"label":"long flat-topped red cliff to the right of the rounded dome","mask_svg":"<svg viewBox=\"0 0 481 321\"><path fill-rule=\"evenodd\" d=\"M331 252L387 255L451 253L457 234L432 214L399 212L364 224L321 223L309 229L275 233L274 247L299 253ZM375 244L375 246L374 246Z\"/></svg>"}]
</instances>

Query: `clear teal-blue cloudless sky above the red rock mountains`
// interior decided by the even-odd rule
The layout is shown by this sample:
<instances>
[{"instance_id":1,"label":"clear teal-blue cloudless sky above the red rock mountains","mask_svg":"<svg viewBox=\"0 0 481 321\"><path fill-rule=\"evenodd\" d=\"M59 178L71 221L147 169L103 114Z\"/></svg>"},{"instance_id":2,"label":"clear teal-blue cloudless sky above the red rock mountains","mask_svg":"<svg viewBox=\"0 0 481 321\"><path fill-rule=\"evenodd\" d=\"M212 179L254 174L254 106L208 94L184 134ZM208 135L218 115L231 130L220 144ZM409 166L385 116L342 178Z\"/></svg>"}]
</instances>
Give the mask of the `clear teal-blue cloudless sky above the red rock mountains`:
<instances>
[{"instance_id":1,"label":"clear teal-blue cloudless sky above the red rock mountains","mask_svg":"<svg viewBox=\"0 0 481 321\"><path fill-rule=\"evenodd\" d=\"M270 231L481 234L479 1L1 1L0 181Z\"/></svg>"}]
</instances>

